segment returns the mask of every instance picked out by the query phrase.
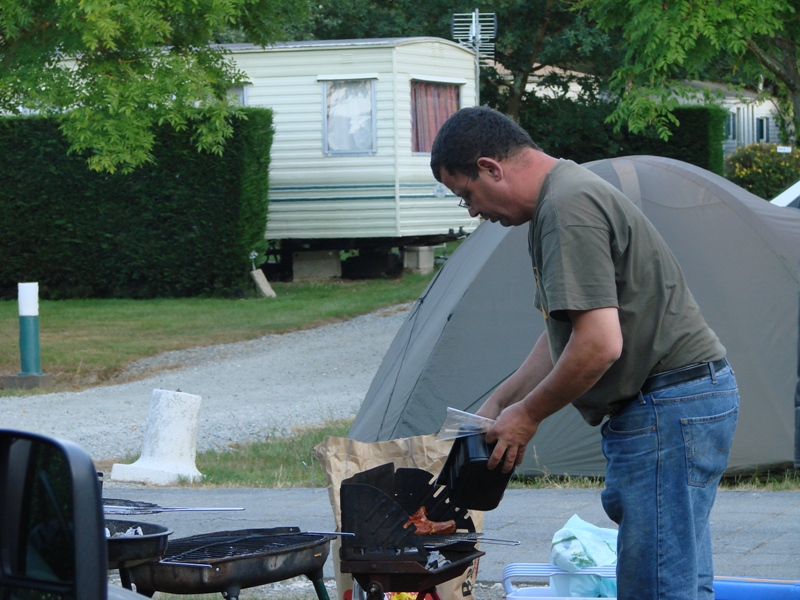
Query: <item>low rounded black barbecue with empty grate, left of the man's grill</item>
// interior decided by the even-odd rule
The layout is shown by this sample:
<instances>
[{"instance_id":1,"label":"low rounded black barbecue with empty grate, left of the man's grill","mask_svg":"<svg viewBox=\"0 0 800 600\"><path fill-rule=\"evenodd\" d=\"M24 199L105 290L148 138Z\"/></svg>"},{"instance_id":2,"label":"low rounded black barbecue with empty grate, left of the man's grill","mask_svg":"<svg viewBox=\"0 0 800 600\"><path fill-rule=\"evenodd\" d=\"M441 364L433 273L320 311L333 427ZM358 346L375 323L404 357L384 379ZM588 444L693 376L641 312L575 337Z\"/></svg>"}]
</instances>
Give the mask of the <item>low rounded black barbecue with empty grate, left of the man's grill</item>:
<instances>
[{"instance_id":1,"label":"low rounded black barbecue with empty grate, left of the man's grill","mask_svg":"<svg viewBox=\"0 0 800 600\"><path fill-rule=\"evenodd\" d=\"M322 580L333 536L297 527L220 531L170 540L159 562L128 569L136 591L207 594L237 600L243 588L305 575L319 600L329 600Z\"/></svg>"}]
</instances>

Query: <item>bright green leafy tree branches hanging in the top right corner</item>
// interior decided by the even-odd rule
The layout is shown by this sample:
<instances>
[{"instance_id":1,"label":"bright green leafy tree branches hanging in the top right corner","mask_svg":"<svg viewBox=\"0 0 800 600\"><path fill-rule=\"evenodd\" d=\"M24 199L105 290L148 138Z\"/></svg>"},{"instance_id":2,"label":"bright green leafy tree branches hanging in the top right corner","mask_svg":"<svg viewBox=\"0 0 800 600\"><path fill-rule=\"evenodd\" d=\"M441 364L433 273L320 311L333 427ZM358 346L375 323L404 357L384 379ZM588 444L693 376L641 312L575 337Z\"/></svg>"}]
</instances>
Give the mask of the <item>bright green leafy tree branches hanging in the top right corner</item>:
<instances>
[{"instance_id":1,"label":"bright green leafy tree branches hanging in the top right corner","mask_svg":"<svg viewBox=\"0 0 800 600\"><path fill-rule=\"evenodd\" d=\"M611 116L635 132L655 126L667 139L678 97L693 92L681 80L732 65L752 81L754 71L773 80L800 118L800 17L794 0L578 0L577 8L626 43L612 77L620 103ZM754 68L755 67L755 68ZM733 75L733 73L732 73Z\"/></svg>"}]
</instances>

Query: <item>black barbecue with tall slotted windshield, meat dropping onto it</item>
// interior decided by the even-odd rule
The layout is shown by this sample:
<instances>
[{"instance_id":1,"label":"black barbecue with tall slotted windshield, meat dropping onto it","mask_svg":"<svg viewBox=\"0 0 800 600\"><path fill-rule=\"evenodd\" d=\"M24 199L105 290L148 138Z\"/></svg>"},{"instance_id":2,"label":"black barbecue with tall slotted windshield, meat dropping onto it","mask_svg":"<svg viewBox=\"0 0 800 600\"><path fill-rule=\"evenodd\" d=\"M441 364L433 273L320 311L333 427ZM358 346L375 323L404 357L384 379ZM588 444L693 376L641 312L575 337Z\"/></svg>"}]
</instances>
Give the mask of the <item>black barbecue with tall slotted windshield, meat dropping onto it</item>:
<instances>
[{"instance_id":1,"label":"black barbecue with tall slotted windshield, meat dropping onto it","mask_svg":"<svg viewBox=\"0 0 800 600\"><path fill-rule=\"evenodd\" d=\"M465 508L454 505L447 488L422 469L391 463L363 471L340 488L342 538L340 568L351 573L368 600L385 592L417 592L438 598L435 587L459 575L485 553ZM431 521L456 522L456 533L416 535L410 515L424 506Z\"/></svg>"}]
</instances>

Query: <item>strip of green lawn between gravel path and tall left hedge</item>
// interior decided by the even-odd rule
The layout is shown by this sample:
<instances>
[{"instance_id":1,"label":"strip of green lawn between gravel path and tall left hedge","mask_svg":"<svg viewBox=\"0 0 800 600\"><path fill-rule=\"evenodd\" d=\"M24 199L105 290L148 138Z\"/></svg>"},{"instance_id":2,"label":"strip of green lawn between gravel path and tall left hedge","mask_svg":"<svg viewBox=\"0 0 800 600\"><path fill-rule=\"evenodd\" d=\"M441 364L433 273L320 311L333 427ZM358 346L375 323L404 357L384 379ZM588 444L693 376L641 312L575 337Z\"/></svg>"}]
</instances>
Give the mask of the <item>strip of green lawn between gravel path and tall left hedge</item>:
<instances>
[{"instance_id":1,"label":"strip of green lawn between gravel path and tall left hedge","mask_svg":"<svg viewBox=\"0 0 800 600\"><path fill-rule=\"evenodd\" d=\"M431 277L276 283L276 298L41 301L42 371L55 384L26 393L122 382L129 380L120 378L126 365L161 352L307 329L412 302ZM17 302L0 302L0 375L16 375L20 368ZM19 393L0 390L4 396Z\"/></svg>"}]
</instances>

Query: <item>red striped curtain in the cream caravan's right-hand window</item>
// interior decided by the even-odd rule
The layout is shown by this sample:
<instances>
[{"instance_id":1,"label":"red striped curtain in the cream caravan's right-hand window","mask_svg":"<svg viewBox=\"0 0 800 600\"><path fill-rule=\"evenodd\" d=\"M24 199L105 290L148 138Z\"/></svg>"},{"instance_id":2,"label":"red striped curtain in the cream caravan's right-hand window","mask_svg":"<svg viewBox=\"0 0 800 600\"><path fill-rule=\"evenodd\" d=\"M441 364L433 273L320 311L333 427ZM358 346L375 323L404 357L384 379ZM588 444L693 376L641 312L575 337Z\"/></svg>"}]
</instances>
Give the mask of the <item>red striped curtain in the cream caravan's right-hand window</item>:
<instances>
[{"instance_id":1,"label":"red striped curtain in the cream caravan's right-hand window","mask_svg":"<svg viewBox=\"0 0 800 600\"><path fill-rule=\"evenodd\" d=\"M412 150L430 152L439 128L457 110L457 85L412 81Z\"/></svg>"}]
</instances>

